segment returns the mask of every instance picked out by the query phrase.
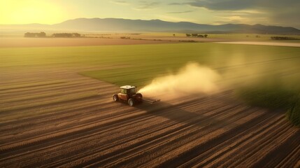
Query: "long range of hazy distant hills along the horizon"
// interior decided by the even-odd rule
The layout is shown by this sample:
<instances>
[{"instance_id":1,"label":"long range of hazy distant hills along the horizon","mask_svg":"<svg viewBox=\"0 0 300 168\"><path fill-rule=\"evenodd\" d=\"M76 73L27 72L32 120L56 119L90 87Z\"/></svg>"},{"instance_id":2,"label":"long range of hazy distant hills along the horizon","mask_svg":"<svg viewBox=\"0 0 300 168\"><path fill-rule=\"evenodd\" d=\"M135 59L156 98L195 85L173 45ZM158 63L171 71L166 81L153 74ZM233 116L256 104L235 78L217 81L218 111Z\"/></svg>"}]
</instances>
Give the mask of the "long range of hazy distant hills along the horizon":
<instances>
[{"instance_id":1,"label":"long range of hazy distant hills along the horizon","mask_svg":"<svg viewBox=\"0 0 300 168\"><path fill-rule=\"evenodd\" d=\"M117 18L78 18L55 25L0 25L1 30L27 29L41 31L106 31L106 32L181 32L181 33L253 33L253 34L300 34L293 27L265 25L202 25L193 22L166 22L162 20L128 20Z\"/></svg>"}]
</instances>

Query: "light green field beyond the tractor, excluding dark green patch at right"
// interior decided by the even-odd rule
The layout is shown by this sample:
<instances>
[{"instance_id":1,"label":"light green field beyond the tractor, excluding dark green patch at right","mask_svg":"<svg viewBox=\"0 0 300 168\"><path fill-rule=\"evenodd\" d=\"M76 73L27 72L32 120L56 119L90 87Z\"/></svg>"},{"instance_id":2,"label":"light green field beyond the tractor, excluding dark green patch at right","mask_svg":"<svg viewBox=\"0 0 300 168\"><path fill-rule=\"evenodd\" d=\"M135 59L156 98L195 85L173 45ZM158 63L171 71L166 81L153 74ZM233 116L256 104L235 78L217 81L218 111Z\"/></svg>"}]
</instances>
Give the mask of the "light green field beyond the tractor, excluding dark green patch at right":
<instances>
[{"instance_id":1,"label":"light green field beyond the tractor, excluding dark green patch at right","mask_svg":"<svg viewBox=\"0 0 300 168\"><path fill-rule=\"evenodd\" d=\"M158 76L176 72L187 62L217 69L226 76L262 76L287 73L287 81L299 73L299 48L216 43L161 45L110 45L66 48L2 48L0 67L93 66L81 74L116 85L142 87ZM238 70L238 71L236 71ZM234 73L231 73L234 72ZM291 73L289 73L291 72ZM280 73L280 74L279 74ZM277 76L276 76L277 77ZM284 82L284 81L283 81Z\"/></svg>"}]
</instances>

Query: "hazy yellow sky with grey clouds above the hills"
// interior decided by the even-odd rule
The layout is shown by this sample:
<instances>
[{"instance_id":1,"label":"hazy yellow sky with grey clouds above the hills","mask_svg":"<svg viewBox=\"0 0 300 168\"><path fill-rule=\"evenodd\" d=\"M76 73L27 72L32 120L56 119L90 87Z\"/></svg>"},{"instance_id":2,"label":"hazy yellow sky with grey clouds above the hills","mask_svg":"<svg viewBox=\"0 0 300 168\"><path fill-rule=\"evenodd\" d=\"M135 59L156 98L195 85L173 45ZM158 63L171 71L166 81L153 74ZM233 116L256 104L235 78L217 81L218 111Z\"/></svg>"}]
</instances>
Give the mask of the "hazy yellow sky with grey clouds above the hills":
<instances>
[{"instance_id":1,"label":"hazy yellow sky with grey clouds above the hills","mask_svg":"<svg viewBox=\"0 0 300 168\"><path fill-rule=\"evenodd\" d=\"M300 0L0 0L0 24L126 18L300 28Z\"/></svg>"}]
</instances>

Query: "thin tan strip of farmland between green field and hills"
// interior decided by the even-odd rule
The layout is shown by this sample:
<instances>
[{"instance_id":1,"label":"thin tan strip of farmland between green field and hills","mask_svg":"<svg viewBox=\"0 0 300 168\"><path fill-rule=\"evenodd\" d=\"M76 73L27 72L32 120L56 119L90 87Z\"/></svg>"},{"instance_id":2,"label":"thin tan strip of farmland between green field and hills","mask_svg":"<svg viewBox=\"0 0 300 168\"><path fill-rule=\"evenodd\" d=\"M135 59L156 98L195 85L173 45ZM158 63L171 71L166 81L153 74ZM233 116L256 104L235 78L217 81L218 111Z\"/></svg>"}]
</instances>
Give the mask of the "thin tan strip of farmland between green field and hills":
<instances>
[{"instance_id":1,"label":"thin tan strip of farmland between green field and hills","mask_svg":"<svg viewBox=\"0 0 300 168\"><path fill-rule=\"evenodd\" d=\"M141 34L82 34L82 38L24 38L24 34L3 34L0 32L0 48L10 47L59 47L91 45L136 45L157 43L259 43L259 45L298 46L300 40L271 40L276 34L208 34L208 38L187 37L178 33L141 33ZM203 34L202 34L203 35ZM284 35L299 38L299 35ZM129 39L122 39L122 37ZM277 44L276 44L277 43Z\"/></svg>"}]
</instances>

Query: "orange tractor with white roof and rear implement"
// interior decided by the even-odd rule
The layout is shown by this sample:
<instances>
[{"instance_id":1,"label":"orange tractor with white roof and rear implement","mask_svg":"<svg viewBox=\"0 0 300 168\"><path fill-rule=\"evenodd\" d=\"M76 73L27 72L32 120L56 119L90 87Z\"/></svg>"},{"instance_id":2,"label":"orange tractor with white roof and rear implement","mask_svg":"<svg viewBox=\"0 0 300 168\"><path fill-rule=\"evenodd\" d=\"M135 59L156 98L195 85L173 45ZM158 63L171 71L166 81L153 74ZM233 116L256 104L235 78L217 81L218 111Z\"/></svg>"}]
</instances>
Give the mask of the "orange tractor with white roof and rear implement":
<instances>
[{"instance_id":1,"label":"orange tractor with white roof and rear implement","mask_svg":"<svg viewBox=\"0 0 300 168\"><path fill-rule=\"evenodd\" d=\"M150 104L153 104L160 101L160 99L143 98L143 95L141 93L136 92L136 86L124 85L121 86L120 89L120 93L113 94L113 101L115 102L122 100L123 102L127 102L129 106L134 106L134 104L141 102L148 102Z\"/></svg>"}]
</instances>

